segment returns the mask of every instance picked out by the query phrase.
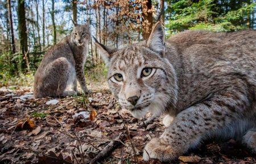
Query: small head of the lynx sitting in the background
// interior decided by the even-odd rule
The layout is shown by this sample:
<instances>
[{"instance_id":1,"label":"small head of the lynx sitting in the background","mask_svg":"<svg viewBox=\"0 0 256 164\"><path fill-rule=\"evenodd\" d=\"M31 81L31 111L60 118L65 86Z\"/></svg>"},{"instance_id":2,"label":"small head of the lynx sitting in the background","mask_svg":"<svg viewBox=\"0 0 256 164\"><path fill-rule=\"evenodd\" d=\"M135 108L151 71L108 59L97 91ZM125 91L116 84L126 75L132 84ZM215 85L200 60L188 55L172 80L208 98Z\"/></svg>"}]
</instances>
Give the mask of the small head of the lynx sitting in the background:
<instances>
[{"instance_id":1,"label":"small head of the lynx sitting in the background","mask_svg":"<svg viewBox=\"0 0 256 164\"><path fill-rule=\"evenodd\" d=\"M73 21L73 24L74 27L71 33L71 42L73 42L76 46L88 45L90 39L89 22L80 25Z\"/></svg>"}]
</instances>

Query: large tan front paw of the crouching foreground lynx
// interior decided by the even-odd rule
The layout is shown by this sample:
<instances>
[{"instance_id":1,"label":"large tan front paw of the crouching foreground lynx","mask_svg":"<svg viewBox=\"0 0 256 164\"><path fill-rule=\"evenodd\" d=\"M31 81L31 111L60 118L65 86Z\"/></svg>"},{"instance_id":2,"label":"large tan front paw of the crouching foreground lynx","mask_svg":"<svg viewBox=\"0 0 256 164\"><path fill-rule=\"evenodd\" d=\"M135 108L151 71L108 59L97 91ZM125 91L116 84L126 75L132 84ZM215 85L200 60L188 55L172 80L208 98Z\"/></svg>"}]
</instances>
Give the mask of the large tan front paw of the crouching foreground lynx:
<instances>
[{"instance_id":1,"label":"large tan front paw of the crouching foreground lynx","mask_svg":"<svg viewBox=\"0 0 256 164\"><path fill-rule=\"evenodd\" d=\"M152 139L144 148L144 161L159 159L162 162L167 162L175 158L177 158L177 153L171 148L171 145L165 144L163 139Z\"/></svg>"}]
</instances>

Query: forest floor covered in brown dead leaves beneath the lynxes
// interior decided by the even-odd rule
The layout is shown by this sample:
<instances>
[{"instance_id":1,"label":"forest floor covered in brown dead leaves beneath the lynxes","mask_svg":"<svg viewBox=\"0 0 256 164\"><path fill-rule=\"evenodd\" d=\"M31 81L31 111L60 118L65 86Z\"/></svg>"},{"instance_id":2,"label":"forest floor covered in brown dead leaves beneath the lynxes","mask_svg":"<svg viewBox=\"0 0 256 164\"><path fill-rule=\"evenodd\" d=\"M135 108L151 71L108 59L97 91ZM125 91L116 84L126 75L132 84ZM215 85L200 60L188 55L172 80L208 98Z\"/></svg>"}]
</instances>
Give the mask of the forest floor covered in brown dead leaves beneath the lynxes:
<instances>
[{"instance_id":1,"label":"forest floor covered in brown dead leaves beneath the lynxes","mask_svg":"<svg viewBox=\"0 0 256 164\"><path fill-rule=\"evenodd\" d=\"M100 163L160 163L145 162L142 154L164 131L162 117L140 126L142 120L122 110L105 83L94 84L88 96L56 99L34 99L31 87L14 88L0 89L0 163L88 163L109 143L116 148ZM172 163L191 162L256 163L256 158L230 139L203 143Z\"/></svg>"}]
</instances>

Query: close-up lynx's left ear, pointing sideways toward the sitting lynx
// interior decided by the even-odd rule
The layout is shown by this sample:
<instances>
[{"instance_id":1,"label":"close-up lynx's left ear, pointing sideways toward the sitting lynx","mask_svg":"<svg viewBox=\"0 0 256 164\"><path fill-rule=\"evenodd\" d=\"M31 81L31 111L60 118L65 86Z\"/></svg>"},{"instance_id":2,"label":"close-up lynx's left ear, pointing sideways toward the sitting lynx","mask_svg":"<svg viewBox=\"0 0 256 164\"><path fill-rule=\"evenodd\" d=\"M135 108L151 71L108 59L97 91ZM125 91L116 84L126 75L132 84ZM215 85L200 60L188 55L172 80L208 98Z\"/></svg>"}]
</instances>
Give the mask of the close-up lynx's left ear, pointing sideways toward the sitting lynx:
<instances>
[{"instance_id":1,"label":"close-up lynx's left ear, pointing sideways toward the sitting lynx","mask_svg":"<svg viewBox=\"0 0 256 164\"><path fill-rule=\"evenodd\" d=\"M101 57L104 59L104 62L106 64L109 64L110 59L112 58L112 54L117 51L117 49L109 48L108 46L102 45L100 42L97 41L97 39L93 36L93 39L95 41L95 45L97 46Z\"/></svg>"}]
</instances>

